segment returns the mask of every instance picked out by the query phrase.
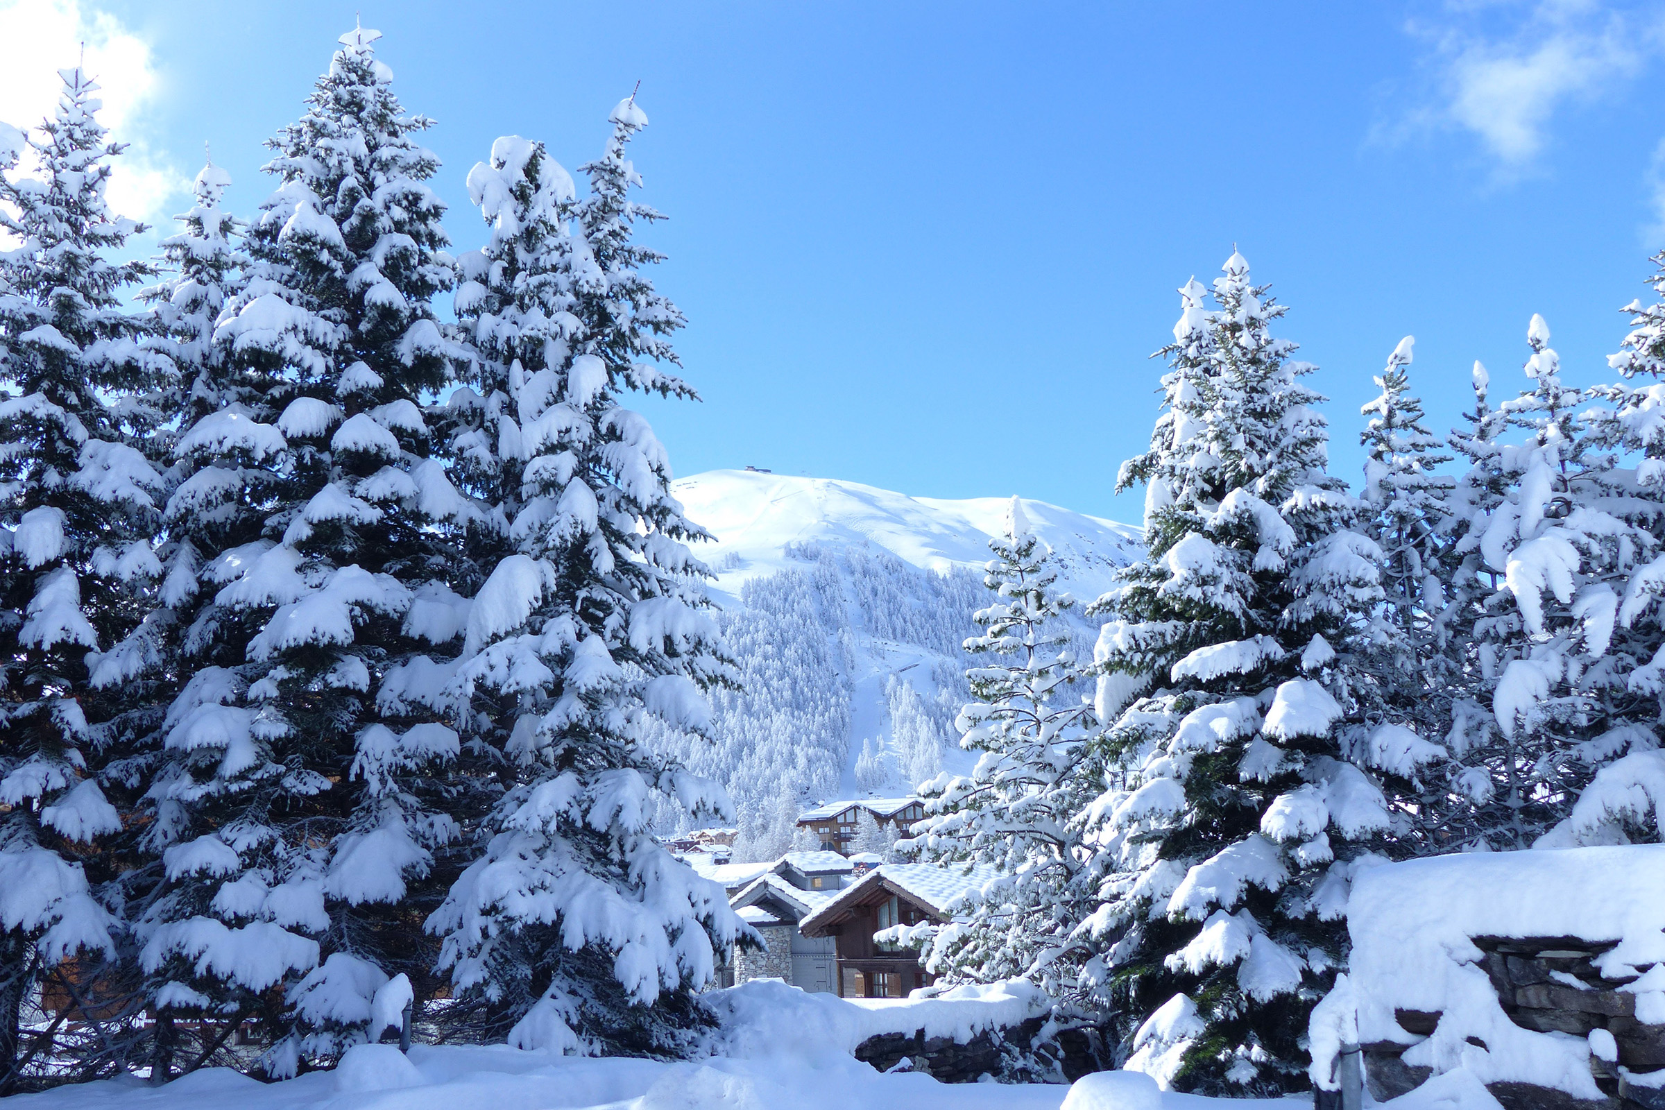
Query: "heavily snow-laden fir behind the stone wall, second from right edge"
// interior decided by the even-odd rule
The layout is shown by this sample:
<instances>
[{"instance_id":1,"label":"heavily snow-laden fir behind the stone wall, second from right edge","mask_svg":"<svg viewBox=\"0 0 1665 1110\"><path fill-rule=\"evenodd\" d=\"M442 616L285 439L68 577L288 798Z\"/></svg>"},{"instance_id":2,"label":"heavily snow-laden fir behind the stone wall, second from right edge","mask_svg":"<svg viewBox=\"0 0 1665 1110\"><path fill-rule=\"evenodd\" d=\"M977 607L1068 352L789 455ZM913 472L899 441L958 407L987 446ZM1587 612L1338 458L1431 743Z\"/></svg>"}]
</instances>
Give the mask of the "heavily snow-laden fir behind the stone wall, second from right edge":
<instances>
[{"instance_id":1,"label":"heavily snow-laden fir behind the stone wall, second from right edge","mask_svg":"<svg viewBox=\"0 0 1665 1110\"><path fill-rule=\"evenodd\" d=\"M1465 562L1452 592L1472 606L1474 652L1447 737L1467 824L1454 830L1490 847L1528 847L1603 764L1658 747L1658 491L1617 466L1627 416L1563 384L1548 339L1533 316L1530 386L1465 444L1477 466L1454 496Z\"/></svg>"}]
</instances>

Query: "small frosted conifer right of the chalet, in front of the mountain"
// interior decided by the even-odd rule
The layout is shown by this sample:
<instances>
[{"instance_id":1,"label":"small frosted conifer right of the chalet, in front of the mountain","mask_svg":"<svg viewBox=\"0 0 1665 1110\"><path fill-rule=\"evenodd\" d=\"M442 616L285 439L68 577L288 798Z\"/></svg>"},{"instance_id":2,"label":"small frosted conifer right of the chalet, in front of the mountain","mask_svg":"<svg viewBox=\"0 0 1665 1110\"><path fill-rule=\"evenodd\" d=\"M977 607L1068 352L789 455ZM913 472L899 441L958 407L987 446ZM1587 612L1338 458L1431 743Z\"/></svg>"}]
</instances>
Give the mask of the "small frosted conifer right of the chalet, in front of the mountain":
<instances>
[{"instance_id":1,"label":"small frosted conifer right of the chalet, in front of the mountain","mask_svg":"<svg viewBox=\"0 0 1665 1110\"><path fill-rule=\"evenodd\" d=\"M1074 1000L1094 955L1077 927L1097 909L1102 879L1077 820L1102 789L1082 767L1097 717L1072 691L1087 671L1062 624L1074 597L1054 589L1052 553L1029 531L1017 498L1006 536L989 549L984 582L994 597L974 616L982 634L966 641L976 701L957 721L961 747L982 756L969 776L942 774L924 785L926 819L901 849L999 872L966 920L929 939L932 974L951 982L1031 979ZM1059 1017L1072 1017L1067 1010Z\"/></svg>"}]
</instances>

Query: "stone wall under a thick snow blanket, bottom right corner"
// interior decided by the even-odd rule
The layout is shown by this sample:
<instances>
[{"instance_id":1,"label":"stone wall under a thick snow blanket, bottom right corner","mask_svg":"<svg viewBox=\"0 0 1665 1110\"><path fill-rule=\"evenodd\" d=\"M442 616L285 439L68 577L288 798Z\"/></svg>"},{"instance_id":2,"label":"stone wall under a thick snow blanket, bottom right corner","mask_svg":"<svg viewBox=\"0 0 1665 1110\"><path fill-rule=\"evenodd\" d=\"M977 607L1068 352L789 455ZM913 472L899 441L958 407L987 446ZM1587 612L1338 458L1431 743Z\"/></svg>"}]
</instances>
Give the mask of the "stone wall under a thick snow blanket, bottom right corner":
<instances>
[{"instance_id":1,"label":"stone wall under a thick snow blanket, bottom right corner","mask_svg":"<svg viewBox=\"0 0 1665 1110\"><path fill-rule=\"evenodd\" d=\"M1665 1110L1665 845L1365 867L1349 932L1315 1072L1355 1013L1377 1098L1465 1072L1508 1110Z\"/></svg>"}]
</instances>

